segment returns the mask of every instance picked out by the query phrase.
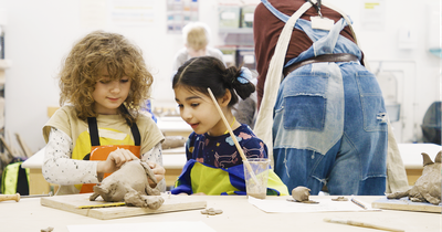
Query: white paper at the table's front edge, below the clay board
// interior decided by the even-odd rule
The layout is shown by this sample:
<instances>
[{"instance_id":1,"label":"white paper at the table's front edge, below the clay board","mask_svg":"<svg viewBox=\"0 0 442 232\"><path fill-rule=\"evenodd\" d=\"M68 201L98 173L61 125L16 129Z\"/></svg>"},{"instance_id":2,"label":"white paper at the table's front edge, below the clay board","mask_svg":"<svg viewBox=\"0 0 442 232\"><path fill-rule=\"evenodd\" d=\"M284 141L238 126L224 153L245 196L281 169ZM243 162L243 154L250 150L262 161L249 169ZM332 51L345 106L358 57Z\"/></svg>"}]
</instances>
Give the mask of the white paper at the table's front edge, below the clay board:
<instances>
[{"instance_id":1,"label":"white paper at the table's front edge, below the clay board","mask_svg":"<svg viewBox=\"0 0 442 232\"><path fill-rule=\"evenodd\" d=\"M106 223L106 224L75 224L67 225L70 232L215 232L202 221L173 221L173 222L143 222L143 223Z\"/></svg>"}]
</instances>

